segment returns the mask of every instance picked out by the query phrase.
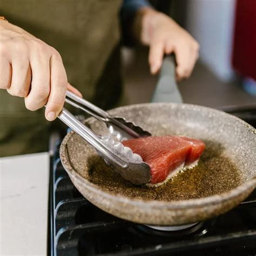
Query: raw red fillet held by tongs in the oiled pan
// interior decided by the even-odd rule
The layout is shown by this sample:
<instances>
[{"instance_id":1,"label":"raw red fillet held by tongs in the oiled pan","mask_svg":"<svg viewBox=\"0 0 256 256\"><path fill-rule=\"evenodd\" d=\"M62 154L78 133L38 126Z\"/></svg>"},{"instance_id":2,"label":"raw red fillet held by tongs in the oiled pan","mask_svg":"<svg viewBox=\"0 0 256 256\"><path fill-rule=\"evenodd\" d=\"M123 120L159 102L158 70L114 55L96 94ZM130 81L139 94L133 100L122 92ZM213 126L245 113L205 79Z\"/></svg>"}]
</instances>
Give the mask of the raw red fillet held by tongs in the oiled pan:
<instances>
[{"instance_id":1,"label":"raw red fillet held by tongs in the oiled pan","mask_svg":"<svg viewBox=\"0 0 256 256\"><path fill-rule=\"evenodd\" d=\"M196 163L205 149L203 141L179 136L151 136L122 142L151 168L151 184L162 183L178 167Z\"/></svg>"}]
</instances>

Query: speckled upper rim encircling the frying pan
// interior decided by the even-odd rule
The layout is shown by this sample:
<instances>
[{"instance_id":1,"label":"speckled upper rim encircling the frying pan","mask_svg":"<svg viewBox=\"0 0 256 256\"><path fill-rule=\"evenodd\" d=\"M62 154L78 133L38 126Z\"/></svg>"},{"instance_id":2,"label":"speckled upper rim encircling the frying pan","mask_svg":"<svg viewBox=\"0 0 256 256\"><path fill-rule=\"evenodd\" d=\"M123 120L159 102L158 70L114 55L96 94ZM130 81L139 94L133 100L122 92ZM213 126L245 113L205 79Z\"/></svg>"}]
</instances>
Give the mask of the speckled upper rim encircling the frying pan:
<instances>
[{"instance_id":1,"label":"speckled upper rim encircling the frying pan","mask_svg":"<svg viewBox=\"0 0 256 256\"><path fill-rule=\"evenodd\" d=\"M225 113L220 110L212 109L211 107L206 107L206 106L200 106L200 105L194 105L194 104L180 104L180 103L143 103L143 104L134 104L134 105L128 105L128 106L122 106L122 110L129 109L131 107L138 107L138 106L148 106L148 105L168 105L168 106L178 106L182 105L184 107L188 108L193 108L193 110L196 109L205 109L205 110L211 110L212 112L218 113L218 114L223 114L223 115L228 115L230 118L235 119L237 122L240 122L242 125L246 127L246 129L251 130L254 134L256 134L256 129L254 129L253 126L250 124L247 124L244 120L241 120L238 117L232 116L231 114ZM116 109L112 109L110 111L116 111L120 107L117 107ZM90 122L93 118L87 118L86 122ZM84 177L80 176L75 170L73 170L71 164L70 164L70 159L68 154L66 153L66 145L69 142L69 139L71 138L72 134L75 133L73 131L69 132L63 139L61 145L60 145L60 160L64 166L64 169L66 172L68 172L69 176L72 178L76 179L78 183L82 186L86 185L86 188L93 192L97 193L99 195L102 195L106 199L109 200L114 200L114 201L119 201L120 203L126 203L134 206L140 206L144 208L167 208L167 209L182 209L182 208L187 208L187 207L201 207L201 206L207 206L207 205L217 205L219 203L224 203L225 201L231 200L233 198L237 198L240 194L243 194L245 191L256 188L256 177L242 183L241 185L233 188L232 190L228 192L224 192L221 194L215 194L210 197L204 197L204 198L196 198L196 199L186 199L186 200L172 200L172 201L160 201L160 200L149 200L149 201L144 201L142 199L136 199L136 198L129 198L125 196L121 196L120 194L113 194L108 191L103 190L103 188L99 187L96 184L91 183ZM68 159L67 159L68 158Z\"/></svg>"}]
</instances>

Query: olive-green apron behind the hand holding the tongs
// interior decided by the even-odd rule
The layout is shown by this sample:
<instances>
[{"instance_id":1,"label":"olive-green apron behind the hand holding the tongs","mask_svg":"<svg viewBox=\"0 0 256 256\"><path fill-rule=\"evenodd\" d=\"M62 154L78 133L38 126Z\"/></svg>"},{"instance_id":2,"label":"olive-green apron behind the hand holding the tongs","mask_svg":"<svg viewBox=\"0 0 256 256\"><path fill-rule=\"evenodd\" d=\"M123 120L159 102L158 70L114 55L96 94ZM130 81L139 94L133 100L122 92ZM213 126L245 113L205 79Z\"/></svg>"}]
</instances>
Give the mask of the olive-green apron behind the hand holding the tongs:
<instances>
[{"instance_id":1,"label":"olive-green apron behind the hand holding the tongs","mask_svg":"<svg viewBox=\"0 0 256 256\"><path fill-rule=\"evenodd\" d=\"M120 0L1 0L0 15L56 48L70 84L108 109L122 95L119 51ZM72 110L74 112L74 110ZM0 156L48 150L44 109L0 90Z\"/></svg>"}]
</instances>

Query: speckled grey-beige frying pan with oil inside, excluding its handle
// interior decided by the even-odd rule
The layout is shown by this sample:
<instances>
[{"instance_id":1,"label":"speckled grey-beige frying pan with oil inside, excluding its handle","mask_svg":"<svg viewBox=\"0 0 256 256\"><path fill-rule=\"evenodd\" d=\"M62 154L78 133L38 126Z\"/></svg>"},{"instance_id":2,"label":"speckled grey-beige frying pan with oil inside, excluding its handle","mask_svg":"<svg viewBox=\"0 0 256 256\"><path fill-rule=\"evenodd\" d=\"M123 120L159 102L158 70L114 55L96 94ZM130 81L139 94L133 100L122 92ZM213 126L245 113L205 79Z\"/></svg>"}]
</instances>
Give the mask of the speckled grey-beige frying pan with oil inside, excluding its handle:
<instances>
[{"instance_id":1,"label":"speckled grey-beige frying pan with oil inside, excluding its handle","mask_svg":"<svg viewBox=\"0 0 256 256\"><path fill-rule=\"evenodd\" d=\"M256 187L256 132L239 118L203 106L151 103L110 111L154 135L199 138L206 150L199 165L158 188L136 186L105 165L76 133L60 146L65 170L85 198L119 218L151 225L195 223L237 206ZM104 123L86 120L106 134Z\"/></svg>"}]
</instances>

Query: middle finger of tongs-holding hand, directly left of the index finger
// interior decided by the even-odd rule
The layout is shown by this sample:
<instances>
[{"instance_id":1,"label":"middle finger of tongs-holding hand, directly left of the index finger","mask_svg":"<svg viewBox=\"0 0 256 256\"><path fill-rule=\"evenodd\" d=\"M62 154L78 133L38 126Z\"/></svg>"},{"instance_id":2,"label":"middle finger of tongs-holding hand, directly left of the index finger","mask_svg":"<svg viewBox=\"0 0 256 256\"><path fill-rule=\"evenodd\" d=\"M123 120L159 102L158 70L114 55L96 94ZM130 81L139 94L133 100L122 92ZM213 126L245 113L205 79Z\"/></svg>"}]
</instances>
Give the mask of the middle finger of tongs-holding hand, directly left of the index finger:
<instances>
[{"instance_id":1,"label":"middle finger of tongs-holding hand, directly left of the index finger","mask_svg":"<svg viewBox=\"0 0 256 256\"><path fill-rule=\"evenodd\" d=\"M31 56L31 90L25 97L25 105L28 110L35 111L45 105L50 93L50 68L49 58Z\"/></svg>"}]
</instances>

